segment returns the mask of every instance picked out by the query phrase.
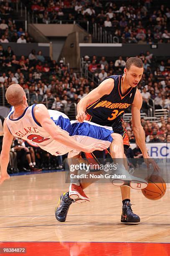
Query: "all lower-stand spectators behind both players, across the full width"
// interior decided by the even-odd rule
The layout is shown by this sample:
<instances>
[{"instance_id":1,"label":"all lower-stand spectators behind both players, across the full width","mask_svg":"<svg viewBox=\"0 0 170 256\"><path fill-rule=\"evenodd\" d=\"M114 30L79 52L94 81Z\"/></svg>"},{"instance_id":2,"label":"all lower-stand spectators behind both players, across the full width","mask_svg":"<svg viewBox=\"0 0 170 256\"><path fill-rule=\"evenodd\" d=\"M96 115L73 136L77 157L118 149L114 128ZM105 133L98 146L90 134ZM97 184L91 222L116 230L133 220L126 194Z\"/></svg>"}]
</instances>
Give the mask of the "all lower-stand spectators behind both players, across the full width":
<instances>
[{"instance_id":1,"label":"all lower-stand spectators behind both players, across the full width","mask_svg":"<svg viewBox=\"0 0 170 256\"><path fill-rule=\"evenodd\" d=\"M156 59L149 51L138 57L144 62L144 74L138 89L143 98L142 112L148 110L155 102L155 108L170 107L170 59ZM84 65L100 82L107 76L123 74L126 59L84 56ZM15 56L9 46L6 51L0 45L0 91L6 90L10 84L19 83L28 95L29 104L44 103L48 108L69 113L71 104L78 103L98 84L81 77L63 64L43 56L41 51L32 50L28 56ZM0 97L0 105L2 105ZM5 102L8 106L8 102ZM166 120L165 120L166 121ZM146 122L146 125L148 123ZM155 123L152 126L155 128ZM162 124L164 127L164 123ZM144 125L145 126L145 125ZM155 130L151 128L152 132ZM157 126L158 127L158 126ZM146 135L147 130L146 127ZM162 129L162 126L160 126ZM165 128L168 127L165 125ZM165 130L166 130L165 129ZM169 131L167 129L167 131ZM162 134L162 133L161 133ZM162 139L166 140L165 133Z\"/></svg>"}]
</instances>

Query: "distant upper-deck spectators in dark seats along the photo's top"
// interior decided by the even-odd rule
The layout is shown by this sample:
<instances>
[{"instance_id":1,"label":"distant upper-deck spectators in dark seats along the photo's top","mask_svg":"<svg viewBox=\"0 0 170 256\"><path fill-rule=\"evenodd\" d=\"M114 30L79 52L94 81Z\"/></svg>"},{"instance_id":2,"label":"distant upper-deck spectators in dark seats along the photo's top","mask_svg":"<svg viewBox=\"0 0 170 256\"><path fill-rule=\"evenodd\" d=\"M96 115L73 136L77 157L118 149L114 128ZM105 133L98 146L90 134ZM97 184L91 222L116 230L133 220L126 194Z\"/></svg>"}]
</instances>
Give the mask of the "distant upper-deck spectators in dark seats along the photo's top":
<instances>
[{"instance_id":1,"label":"distant upper-deck spectators in dark seats along the photo's top","mask_svg":"<svg viewBox=\"0 0 170 256\"><path fill-rule=\"evenodd\" d=\"M84 1L84 0L23 0L38 23L66 23L89 21L119 38L120 43L153 44L170 42L170 8L155 0ZM86 25L85 27L86 28Z\"/></svg>"}]
</instances>

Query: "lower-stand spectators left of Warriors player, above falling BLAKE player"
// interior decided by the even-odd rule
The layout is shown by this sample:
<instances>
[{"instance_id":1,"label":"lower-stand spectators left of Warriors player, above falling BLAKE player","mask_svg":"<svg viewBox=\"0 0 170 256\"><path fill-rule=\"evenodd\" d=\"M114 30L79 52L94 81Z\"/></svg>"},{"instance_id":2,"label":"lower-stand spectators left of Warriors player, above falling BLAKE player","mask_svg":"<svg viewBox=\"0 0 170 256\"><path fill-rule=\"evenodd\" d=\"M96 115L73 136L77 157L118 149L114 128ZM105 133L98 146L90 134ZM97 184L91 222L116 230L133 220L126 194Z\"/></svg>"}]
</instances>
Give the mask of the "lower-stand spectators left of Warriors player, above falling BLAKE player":
<instances>
[{"instance_id":1,"label":"lower-stand spectators left of Warriors player, above falling BLAKE player","mask_svg":"<svg viewBox=\"0 0 170 256\"><path fill-rule=\"evenodd\" d=\"M77 103L94 89L90 82L69 69L63 61L45 58L41 51L32 50L28 56L15 56L8 46L0 45L0 89L19 83L28 95L30 105L43 102L48 108L68 112L72 103ZM2 105L0 97L0 105ZM8 106L8 102L5 101Z\"/></svg>"}]
</instances>

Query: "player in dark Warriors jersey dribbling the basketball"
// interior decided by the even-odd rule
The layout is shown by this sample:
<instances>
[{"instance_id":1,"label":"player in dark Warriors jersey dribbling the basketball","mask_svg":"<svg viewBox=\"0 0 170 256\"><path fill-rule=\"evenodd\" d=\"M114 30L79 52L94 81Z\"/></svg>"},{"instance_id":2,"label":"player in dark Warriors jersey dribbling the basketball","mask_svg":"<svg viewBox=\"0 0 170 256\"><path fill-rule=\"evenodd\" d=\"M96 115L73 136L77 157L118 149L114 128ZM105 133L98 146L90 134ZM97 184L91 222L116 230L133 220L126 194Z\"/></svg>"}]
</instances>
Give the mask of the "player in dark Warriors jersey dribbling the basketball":
<instances>
[{"instance_id":1,"label":"player in dark Warriors jersey dribbling the basketball","mask_svg":"<svg viewBox=\"0 0 170 256\"><path fill-rule=\"evenodd\" d=\"M143 63L141 59L136 57L129 58L124 68L124 75L113 75L107 77L96 89L89 92L88 95L80 100L77 105L76 119L80 123L84 120L89 120L99 125L112 126L114 133L122 136L122 142L124 144L124 166L127 169L126 153L129 148L129 140L123 126L122 114L124 113L124 110L129 108L129 106L132 106L132 126L136 142L140 146L148 168L149 165L152 164L154 169L157 170L157 164L148 156L145 145L145 132L140 122L142 95L137 89L137 84L140 82L142 74ZM112 158L115 158L115 154L116 150L114 148ZM103 158L102 151L95 151L90 154L84 153L84 155L86 157L86 161L89 163L94 163L95 159ZM122 156L119 155L119 157L121 158ZM90 182L94 182L94 179L91 179ZM71 199L69 199L71 191L75 191L76 189L79 190L79 186L84 189L91 184L90 182L87 183L85 179L76 181L75 184L70 187L69 193L67 192L65 196L61 196L60 201L63 200L65 204L64 202L61 202L56 208L56 219L58 221L66 220L69 206L71 205ZM140 222L140 217L132 212L130 204L130 187L122 185L120 188L123 203L121 222ZM61 207L61 205L65 207Z\"/></svg>"}]
</instances>

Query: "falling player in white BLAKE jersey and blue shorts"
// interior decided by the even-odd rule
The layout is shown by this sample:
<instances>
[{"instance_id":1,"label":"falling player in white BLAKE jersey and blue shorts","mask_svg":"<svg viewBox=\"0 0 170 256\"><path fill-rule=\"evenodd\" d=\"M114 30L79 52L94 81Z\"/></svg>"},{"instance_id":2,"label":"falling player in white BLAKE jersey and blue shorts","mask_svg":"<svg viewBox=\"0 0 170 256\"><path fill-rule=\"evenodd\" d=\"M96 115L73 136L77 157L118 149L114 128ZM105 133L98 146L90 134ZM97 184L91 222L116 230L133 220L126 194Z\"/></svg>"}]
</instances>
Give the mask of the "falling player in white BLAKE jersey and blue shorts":
<instances>
[{"instance_id":1,"label":"falling player in white BLAKE jersey and blue shorts","mask_svg":"<svg viewBox=\"0 0 170 256\"><path fill-rule=\"evenodd\" d=\"M114 135L111 127L96 125L89 121L83 123L70 121L65 114L56 110L47 110L43 104L28 107L25 92L19 84L10 85L5 96L10 105L13 105L13 109L4 121L3 148L0 155L0 184L5 179L9 179L7 166L13 136L37 143L40 148L52 155L58 156L69 152L70 157L78 156L81 151L90 153L96 150L103 151L108 147L112 151L112 146L116 142L123 157L123 143L120 135ZM111 144L113 140L114 143ZM131 180L123 163L119 161L118 164L118 171L126 176L124 180ZM132 177L132 179L147 186L147 182L142 179L137 177Z\"/></svg>"}]
</instances>

